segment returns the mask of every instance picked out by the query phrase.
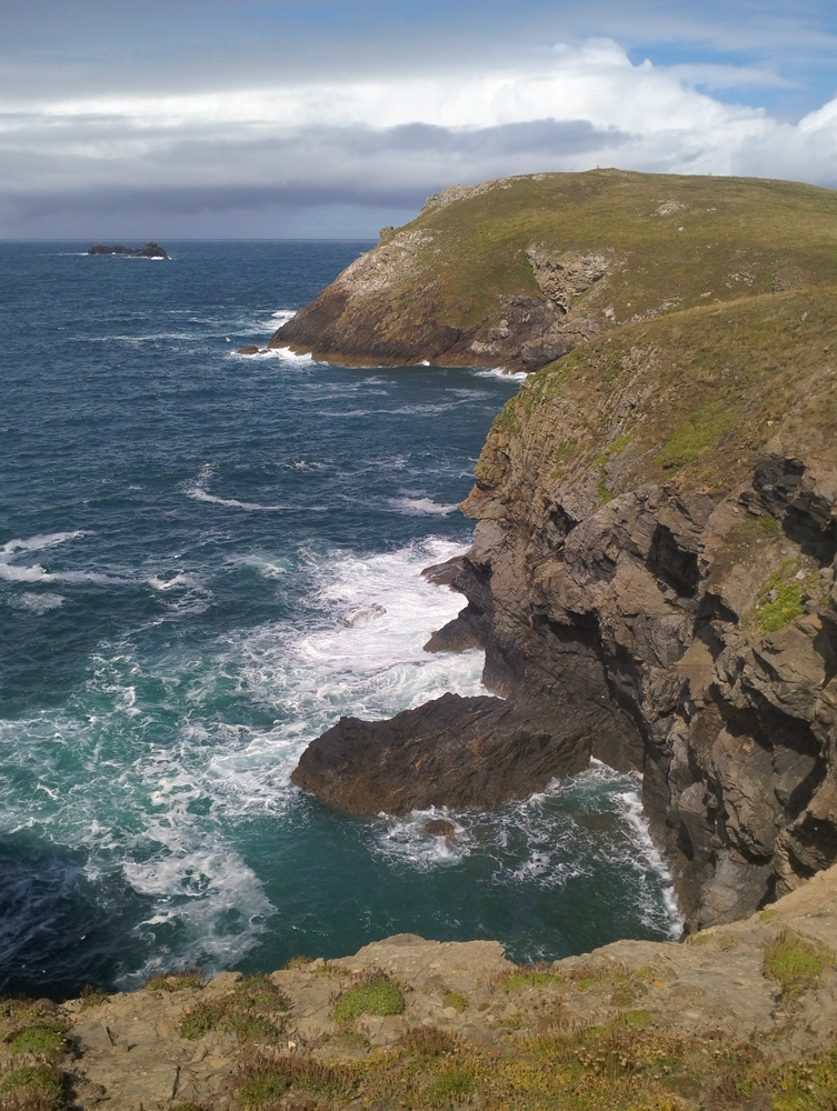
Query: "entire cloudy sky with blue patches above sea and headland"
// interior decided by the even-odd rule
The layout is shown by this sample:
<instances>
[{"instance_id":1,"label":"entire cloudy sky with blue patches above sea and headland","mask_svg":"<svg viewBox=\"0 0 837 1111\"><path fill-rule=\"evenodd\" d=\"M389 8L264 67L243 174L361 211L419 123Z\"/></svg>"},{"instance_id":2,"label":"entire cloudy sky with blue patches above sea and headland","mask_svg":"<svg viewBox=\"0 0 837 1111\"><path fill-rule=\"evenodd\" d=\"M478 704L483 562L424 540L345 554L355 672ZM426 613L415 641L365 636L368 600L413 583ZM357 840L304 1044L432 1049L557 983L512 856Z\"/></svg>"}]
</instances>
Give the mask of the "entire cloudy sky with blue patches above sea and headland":
<instances>
[{"instance_id":1,"label":"entire cloudy sky with blue patches above sea and headland","mask_svg":"<svg viewBox=\"0 0 837 1111\"><path fill-rule=\"evenodd\" d=\"M0 0L0 238L372 237L596 166L837 187L835 0Z\"/></svg>"}]
</instances>

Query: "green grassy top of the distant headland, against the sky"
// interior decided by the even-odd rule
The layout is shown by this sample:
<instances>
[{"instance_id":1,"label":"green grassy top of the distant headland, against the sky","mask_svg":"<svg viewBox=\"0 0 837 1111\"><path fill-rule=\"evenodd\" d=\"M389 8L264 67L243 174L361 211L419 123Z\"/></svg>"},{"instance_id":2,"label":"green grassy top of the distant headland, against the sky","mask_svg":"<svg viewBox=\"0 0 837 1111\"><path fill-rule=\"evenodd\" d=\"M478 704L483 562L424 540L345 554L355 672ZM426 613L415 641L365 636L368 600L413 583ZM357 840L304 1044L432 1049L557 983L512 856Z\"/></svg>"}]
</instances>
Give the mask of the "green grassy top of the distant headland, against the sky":
<instances>
[{"instance_id":1,"label":"green grassy top of the distant headland, against the sky","mask_svg":"<svg viewBox=\"0 0 837 1111\"><path fill-rule=\"evenodd\" d=\"M813 186L590 170L507 178L445 200L401 230L438 232L418 258L436 271L442 319L460 327L499 311L502 297L538 293L532 244L612 252L608 303L620 321L837 282L837 192Z\"/></svg>"}]
</instances>

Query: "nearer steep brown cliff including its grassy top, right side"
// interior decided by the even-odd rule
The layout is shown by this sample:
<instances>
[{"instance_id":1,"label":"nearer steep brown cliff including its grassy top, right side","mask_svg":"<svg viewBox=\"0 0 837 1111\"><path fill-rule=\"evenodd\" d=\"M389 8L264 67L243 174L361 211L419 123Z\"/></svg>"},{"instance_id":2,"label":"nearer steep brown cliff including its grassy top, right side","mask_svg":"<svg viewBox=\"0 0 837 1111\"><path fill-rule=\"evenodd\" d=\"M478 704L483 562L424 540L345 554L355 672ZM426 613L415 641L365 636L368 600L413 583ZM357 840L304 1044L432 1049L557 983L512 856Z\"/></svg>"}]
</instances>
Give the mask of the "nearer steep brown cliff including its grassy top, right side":
<instances>
[{"instance_id":1,"label":"nearer steep brown cliff including its grassy top, right side","mask_svg":"<svg viewBox=\"0 0 837 1111\"><path fill-rule=\"evenodd\" d=\"M489 688L644 773L691 929L837 859L837 310L680 312L525 382L464 503Z\"/></svg>"}]
</instances>

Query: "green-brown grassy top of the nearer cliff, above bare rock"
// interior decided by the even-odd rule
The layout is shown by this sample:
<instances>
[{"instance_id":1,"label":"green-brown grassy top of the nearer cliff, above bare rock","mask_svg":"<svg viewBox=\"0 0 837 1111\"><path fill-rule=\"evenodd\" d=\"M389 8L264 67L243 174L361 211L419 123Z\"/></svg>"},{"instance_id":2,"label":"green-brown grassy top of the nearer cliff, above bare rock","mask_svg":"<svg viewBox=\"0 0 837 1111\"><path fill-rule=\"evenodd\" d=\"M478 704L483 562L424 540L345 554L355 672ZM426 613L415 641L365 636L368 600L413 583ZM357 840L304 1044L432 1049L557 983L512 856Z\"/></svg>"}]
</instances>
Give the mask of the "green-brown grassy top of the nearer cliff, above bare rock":
<instances>
[{"instance_id":1,"label":"green-brown grassy top of the nearer cliff, above bare rock","mask_svg":"<svg viewBox=\"0 0 837 1111\"><path fill-rule=\"evenodd\" d=\"M599 504L608 500L605 490L646 481L727 487L774 439L804 436L809 451L833 443L833 351L837 299L830 288L629 324L527 379L496 419L477 479L490 476L492 443L526 452L539 424L560 422L556 467L537 476L544 484L595 472Z\"/></svg>"}]
</instances>

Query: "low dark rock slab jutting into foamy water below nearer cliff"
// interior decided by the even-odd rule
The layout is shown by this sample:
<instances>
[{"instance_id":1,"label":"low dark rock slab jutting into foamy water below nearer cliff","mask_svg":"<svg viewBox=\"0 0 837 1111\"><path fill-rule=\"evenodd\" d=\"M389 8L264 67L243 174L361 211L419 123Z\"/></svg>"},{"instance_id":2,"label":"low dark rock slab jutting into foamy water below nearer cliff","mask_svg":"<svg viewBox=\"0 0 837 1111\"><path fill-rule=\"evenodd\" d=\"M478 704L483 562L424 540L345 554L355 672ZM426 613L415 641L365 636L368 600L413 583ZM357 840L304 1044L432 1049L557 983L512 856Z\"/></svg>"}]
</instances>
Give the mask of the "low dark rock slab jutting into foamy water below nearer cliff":
<instances>
[{"instance_id":1,"label":"low dark rock slab jutting into foamy water below nearer cliff","mask_svg":"<svg viewBox=\"0 0 837 1111\"><path fill-rule=\"evenodd\" d=\"M495 807L572 775L590 759L588 721L525 699L442 694L388 721L341 718L291 780L350 813ZM560 738L560 740L558 739Z\"/></svg>"}]
</instances>

